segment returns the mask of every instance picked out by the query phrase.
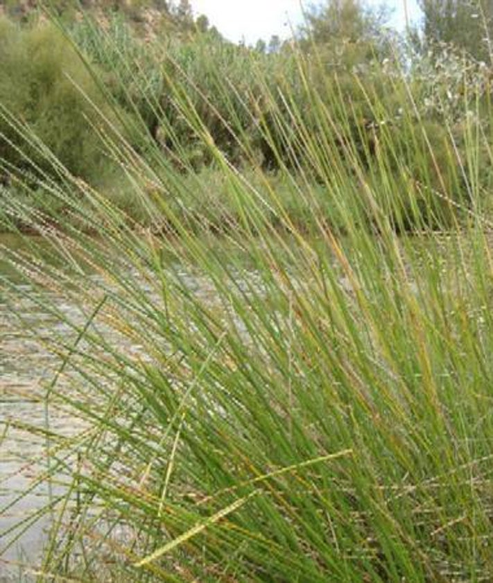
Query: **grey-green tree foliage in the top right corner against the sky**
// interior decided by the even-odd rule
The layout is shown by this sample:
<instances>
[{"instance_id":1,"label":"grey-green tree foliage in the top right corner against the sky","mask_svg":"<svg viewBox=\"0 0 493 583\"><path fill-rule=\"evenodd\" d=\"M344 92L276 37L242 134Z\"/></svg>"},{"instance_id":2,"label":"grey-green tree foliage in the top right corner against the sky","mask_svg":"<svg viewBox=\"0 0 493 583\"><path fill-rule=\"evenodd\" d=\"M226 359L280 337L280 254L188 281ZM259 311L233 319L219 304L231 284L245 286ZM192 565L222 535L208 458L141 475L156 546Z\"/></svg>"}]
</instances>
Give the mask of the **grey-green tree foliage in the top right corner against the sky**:
<instances>
[{"instance_id":1,"label":"grey-green tree foliage in the top right corner against the sky","mask_svg":"<svg viewBox=\"0 0 493 583\"><path fill-rule=\"evenodd\" d=\"M492 63L493 0L421 0L428 46L450 44Z\"/></svg>"}]
</instances>

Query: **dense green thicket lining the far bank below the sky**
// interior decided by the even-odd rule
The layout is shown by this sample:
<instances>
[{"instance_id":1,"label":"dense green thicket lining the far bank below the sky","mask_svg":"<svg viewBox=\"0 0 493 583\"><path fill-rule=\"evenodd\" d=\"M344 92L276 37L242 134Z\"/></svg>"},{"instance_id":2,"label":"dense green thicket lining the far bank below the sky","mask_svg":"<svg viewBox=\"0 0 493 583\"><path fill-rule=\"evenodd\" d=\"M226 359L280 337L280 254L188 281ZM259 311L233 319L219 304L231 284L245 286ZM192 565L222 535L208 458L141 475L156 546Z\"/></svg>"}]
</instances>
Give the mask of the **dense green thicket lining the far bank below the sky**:
<instances>
[{"instance_id":1,"label":"dense green thicket lining the far bank below the sky","mask_svg":"<svg viewBox=\"0 0 493 583\"><path fill-rule=\"evenodd\" d=\"M115 129L146 161L152 184L170 165L187 174L223 163L301 176L327 189L344 177L361 206L358 220L367 220L358 195L365 183L399 229L447 225L470 206L472 181L489 187L489 148L473 165L481 167L477 176L466 154L472 125L490 135L484 64L450 46L413 52L416 43L382 28L383 12L363 10L356 0L327 3L297 39L270 52L226 42L207 23L193 29L187 6L166 12L181 23L173 33L145 38L123 11L103 21L88 12L65 25L66 37L46 24L19 29L3 21L8 73L0 102L69 171L92 184L105 180L109 191L120 189L128 164L120 148L113 148L116 164L107 161L88 120L117 119ZM5 119L3 128L3 164L22 168L12 147L18 132ZM388 191L388 173L397 191ZM409 184L412 203L401 196ZM129 205L132 195L118 197Z\"/></svg>"}]
</instances>

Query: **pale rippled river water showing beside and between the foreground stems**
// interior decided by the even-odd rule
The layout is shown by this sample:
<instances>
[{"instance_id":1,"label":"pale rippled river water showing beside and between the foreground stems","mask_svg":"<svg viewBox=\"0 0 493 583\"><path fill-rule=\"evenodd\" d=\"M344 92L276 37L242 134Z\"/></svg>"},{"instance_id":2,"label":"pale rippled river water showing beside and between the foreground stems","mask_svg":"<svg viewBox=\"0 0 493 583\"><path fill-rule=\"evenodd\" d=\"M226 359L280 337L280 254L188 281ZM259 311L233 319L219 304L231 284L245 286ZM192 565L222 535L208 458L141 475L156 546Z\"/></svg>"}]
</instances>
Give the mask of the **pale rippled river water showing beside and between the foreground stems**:
<instances>
[{"instance_id":1,"label":"pale rippled river water showing beside and between the foreground stems","mask_svg":"<svg viewBox=\"0 0 493 583\"><path fill-rule=\"evenodd\" d=\"M42 241L33 238L30 243L37 247L42 245ZM83 311L80 297L71 299L67 293L40 292L20 281L8 262L2 262L2 244L5 245L4 250L8 248L10 253L21 250L22 242L20 238L0 236L0 275L6 277L3 289L0 289L0 583L10 583L19 581L19 573L23 577L29 576L40 561L49 538L53 516L45 512L32 522L29 517L37 510L46 509L53 497L63 493L64 487L60 482L64 479L68 483L69 480L68 473L65 476L55 473L56 485L53 481L40 480L40 475L53 463L46 452L54 444L42 433L33 433L32 428L66 437L73 437L85 430L83 421L46 400L54 378L57 379L58 391L71 390L73 378L65 371L58 376L60 358L53 356L47 347L33 338L48 341L59 338L65 345L73 344L77 332L70 322L82 327L94 308L94 302L92 308ZM132 272L128 275L138 277ZM92 289L101 295L101 290L107 289L107 282L94 272L84 277ZM211 294L207 282L199 277L184 271L180 272L180 277L194 293ZM139 286L146 295L155 293L146 281L139 280ZM50 313L49 306L55 306L59 315ZM98 323L98 331L130 358L148 358L138 343L130 343L128 338L119 336L114 329ZM68 464L73 467L76 459L69 458ZM23 519L28 519L25 532L22 532L24 527L15 528ZM17 536L18 539L12 543L12 538Z\"/></svg>"}]
</instances>

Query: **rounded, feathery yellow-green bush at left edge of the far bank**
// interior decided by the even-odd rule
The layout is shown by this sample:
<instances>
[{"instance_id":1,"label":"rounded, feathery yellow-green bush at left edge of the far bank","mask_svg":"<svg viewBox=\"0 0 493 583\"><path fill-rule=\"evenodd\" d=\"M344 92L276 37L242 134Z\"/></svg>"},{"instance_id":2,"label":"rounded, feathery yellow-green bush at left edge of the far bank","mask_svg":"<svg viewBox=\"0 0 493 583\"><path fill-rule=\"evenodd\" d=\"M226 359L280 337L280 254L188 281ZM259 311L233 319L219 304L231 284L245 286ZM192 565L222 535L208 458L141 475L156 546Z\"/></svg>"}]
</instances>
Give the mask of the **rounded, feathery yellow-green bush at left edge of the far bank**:
<instances>
[{"instance_id":1,"label":"rounded, feathery yellow-green bush at left edge of the far bank","mask_svg":"<svg viewBox=\"0 0 493 583\"><path fill-rule=\"evenodd\" d=\"M52 167L47 149L69 172L96 180L108 161L91 124L102 129L102 117L114 116L92 74L51 25L20 30L3 20L0 28L3 164L38 174Z\"/></svg>"}]
</instances>

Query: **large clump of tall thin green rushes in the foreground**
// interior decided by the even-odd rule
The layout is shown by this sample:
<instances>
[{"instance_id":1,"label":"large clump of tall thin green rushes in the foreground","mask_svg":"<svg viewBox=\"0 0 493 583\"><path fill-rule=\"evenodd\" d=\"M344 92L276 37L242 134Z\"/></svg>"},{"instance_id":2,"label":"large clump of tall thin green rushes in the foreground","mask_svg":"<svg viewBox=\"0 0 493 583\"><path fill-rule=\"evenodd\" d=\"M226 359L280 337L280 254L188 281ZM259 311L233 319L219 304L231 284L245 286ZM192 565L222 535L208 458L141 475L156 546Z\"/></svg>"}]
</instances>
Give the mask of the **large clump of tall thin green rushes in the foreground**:
<instances>
[{"instance_id":1,"label":"large clump of tall thin green rushes in the foreground","mask_svg":"<svg viewBox=\"0 0 493 583\"><path fill-rule=\"evenodd\" d=\"M40 580L493 577L481 95L463 96L458 148L404 74L389 81L397 117L371 78L352 78L356 101L346 79L292 59L296 92L259 73L261 103L211 71L221 110L187 71L170 78L216 182L177 171L178 146L148 162L101 135L149 228L69 173L46 189L76 219L64 231L10 205L67 263L12 254L29 287L4 283L65 324L39 338L60 359L49 403L83 421L72 439L48 435L66 494ZM237 98L276 177L234 124Z\"/></svg>"}]
</instances>

